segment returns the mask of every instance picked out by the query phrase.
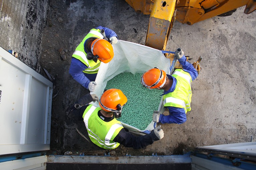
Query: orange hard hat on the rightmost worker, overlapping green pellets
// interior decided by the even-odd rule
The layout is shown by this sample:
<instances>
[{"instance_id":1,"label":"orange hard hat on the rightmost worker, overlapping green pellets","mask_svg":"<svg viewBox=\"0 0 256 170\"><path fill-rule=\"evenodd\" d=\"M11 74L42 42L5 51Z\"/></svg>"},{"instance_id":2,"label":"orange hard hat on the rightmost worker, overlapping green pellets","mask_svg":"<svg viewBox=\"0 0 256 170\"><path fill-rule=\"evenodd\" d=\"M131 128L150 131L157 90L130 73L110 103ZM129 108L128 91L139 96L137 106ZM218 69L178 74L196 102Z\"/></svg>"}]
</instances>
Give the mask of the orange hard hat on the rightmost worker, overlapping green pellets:
<instances>
[{"instance_id":1,"label":"orange hard hat on the rightmost worker, overlapping green pellets","mask_svg":"<svg viewBox=\"0 0 256 170\"><path fill-rule=\"evenodd\" d=\"M144 73L141 77L141 84L147 88L153 89L163 87L166 83L166 73L155 67Z\"/></svg>"}]
</instances>

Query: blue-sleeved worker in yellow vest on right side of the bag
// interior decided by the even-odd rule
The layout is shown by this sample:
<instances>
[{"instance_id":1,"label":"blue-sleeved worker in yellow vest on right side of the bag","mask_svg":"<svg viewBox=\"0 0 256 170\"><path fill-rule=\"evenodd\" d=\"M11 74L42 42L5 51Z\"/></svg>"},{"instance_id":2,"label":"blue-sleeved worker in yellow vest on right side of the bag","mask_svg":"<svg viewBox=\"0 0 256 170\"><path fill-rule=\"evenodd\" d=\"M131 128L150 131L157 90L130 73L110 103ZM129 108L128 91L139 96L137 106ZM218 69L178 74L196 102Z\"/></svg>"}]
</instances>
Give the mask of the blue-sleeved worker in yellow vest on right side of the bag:
<instances>
[{"instance_id":1,"label":"blue-sleeved worker in yellow vest on right side of the bag","mask_svg":"<svg viewBox=\"0 0 256 170\"><path fill-rule=\"evenodd\" d=\"M196 69L187 62L184 52L179 48L175 57L179 60L183 69L176 69L172 75L154 68L142 75L141 83L149 89L163 89L164 107L169 110L169 115L153 112L153 121L160 123L181 124L187 121L186 113L191 110L191 82L198 76Z\"/></svg>"}]
</instances>

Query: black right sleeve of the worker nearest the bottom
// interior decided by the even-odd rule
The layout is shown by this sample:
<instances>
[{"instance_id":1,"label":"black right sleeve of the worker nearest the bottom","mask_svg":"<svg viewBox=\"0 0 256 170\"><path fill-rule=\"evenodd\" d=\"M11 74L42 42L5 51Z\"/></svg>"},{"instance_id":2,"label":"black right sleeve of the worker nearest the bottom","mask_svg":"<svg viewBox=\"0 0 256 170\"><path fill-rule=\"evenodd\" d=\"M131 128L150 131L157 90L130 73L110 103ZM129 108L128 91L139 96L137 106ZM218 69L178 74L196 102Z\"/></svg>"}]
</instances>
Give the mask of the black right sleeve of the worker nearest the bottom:
<instances>
[{"instance_id":1,"label":"black right sleeve of the worker nearest the bottom","mask_svg":"<svg viewBox=\"0 0 256 170\"><path fill-rule=\"evenodd\" d=\"M134 149L141 149L154 141L159 140L155 135L154 130L150 134L144 136L135 136L130 132L126 132L125 129L121 129L113 141L122 144L125 147L133 147Z\"/></svg>"}]
</instances>

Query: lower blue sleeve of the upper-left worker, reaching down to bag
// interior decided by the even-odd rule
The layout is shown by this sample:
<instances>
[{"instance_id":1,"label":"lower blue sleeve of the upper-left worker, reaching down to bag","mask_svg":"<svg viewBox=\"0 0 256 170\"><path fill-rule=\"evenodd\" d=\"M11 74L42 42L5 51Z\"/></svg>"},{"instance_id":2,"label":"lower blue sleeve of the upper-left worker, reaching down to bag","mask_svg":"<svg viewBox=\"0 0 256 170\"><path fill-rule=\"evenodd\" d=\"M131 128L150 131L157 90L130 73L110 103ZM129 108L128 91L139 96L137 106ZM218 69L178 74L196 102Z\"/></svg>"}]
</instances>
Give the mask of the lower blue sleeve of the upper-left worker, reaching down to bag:
<instances>
[{"instance_id":1,"label":"lower blue sleeve of the upper-left worker, reaching down to bag","mask_svg":"<svg viewBox=\"0 0 256 170\"><path fill-rule=\"evenodd\" d=\"M82 86L84 86L85 88L88 89L88 85L90 83L90 80L82 72L86 68L87 68L86 65L84 65L82 62L80 62L79 60L72 57L71 64L70 64L70 67L69 67L69 74L80 85L82 85Z\"/></svg>"}]
</instances>

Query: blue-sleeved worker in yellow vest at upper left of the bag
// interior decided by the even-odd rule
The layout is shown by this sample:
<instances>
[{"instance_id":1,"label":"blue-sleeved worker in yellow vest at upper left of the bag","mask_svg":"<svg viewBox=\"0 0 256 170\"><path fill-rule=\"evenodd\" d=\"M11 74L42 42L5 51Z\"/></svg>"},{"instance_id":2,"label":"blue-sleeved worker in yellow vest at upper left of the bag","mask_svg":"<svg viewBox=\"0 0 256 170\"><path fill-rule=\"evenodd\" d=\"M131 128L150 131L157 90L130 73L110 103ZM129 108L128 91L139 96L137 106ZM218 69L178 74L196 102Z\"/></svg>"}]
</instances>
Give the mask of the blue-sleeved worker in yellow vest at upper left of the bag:
<instances>
[{"instance_id":1,"label":"blue-sleeved worker in yellow vest at upper left of the bag","mask_svg":"<svg viewBox=\"0 0 256 170\"><path fill-rule=\"evenodd\" d=\"M100 63L113 59L112 45L117 41L116 33L109 28L98 26L91 29L72 55L69 74L79 84L94 91Z\"/></svg>"}]
</instances>

